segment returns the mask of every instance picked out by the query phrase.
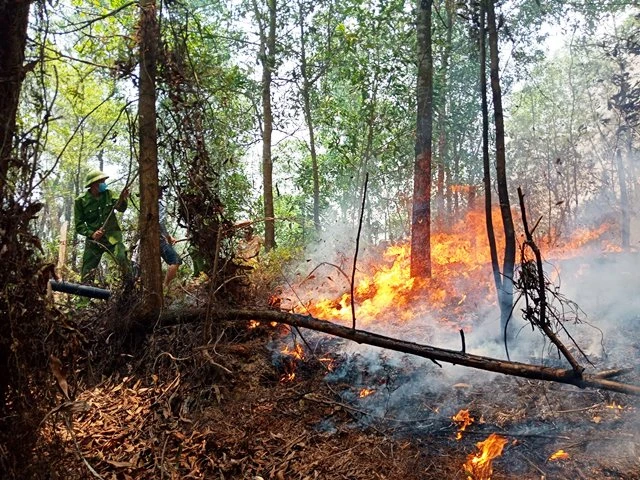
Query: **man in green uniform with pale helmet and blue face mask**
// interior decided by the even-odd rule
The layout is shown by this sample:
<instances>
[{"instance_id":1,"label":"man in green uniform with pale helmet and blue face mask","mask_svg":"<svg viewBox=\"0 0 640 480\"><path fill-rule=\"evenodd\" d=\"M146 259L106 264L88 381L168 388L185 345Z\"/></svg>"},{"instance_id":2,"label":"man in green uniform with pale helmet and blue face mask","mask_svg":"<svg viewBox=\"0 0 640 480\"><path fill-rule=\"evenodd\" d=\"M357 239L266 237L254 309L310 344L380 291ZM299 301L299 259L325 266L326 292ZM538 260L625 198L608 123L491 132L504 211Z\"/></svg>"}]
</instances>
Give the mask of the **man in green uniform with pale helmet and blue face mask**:
<instances>
[{"instance_id":1,"label":"man in green uniform with pale helmet and blue face mask","mask_svg":"<svg viewBox=\"0 0 640 480\"><path fill-rule=\"evenodd\" d=\"M83 283L90 280L92 271L100 265L105 252L125 273L130 269L127 251L122 243L122 230L115 214L115 210L124 212L127 209L129 190L125 189L117 196L107 188L107 178L109 177L99 170L87 174L85 188L88 190L76 198L74 204L76 231L87 237L82 255Z\"/></svg>"}]
</instances>

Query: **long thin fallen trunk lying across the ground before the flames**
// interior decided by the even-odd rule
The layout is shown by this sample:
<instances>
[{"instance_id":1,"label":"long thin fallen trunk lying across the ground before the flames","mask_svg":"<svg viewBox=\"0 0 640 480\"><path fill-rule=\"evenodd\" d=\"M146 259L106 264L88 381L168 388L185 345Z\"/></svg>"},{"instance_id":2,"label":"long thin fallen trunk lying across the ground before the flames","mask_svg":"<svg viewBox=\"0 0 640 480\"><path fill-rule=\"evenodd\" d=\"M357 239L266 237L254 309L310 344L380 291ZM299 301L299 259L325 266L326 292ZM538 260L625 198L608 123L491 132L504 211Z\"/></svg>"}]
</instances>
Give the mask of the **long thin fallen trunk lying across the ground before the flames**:
<instances>
[{"instance_id":1,"label":"long thin fallen trunk lying across the ground before the flames","mask_svg":"<svg viewBox=\"0 0 640 480\"><path fill-rule=\"evenodd\" d=\"M200 321L206 315L206 310L190 311L170 311L165 312L160 318L162 325L174 325L177 323ZM308 328L318 332L324 332L336 337L346 338L354 342L373 345L376 347L409 353L418 357L427 358L437 362L452 363L466 367L487 370L490 372L502 373L516 377L524 377L535 380L546 380L551 382L567 383L580 388L601 388L615 392L640 395L640 386L621 383L609 380L606 375L582 374L577 376L573 369L562 369L543 367L540 365L530 365L520 362L499 360L496 358L483 357L465 352L456 352L444 348L420 345L414 342L407 342L391 337L379 335L377 333L366 332L364 330L354 330L335 323L324 320L317 320L313 317L281 312L277 310L223 310L210 314L219 320L278 322L291 325L292 327ZM608 373L608 372L604 372Z\"/></svg>"}]
</instances>

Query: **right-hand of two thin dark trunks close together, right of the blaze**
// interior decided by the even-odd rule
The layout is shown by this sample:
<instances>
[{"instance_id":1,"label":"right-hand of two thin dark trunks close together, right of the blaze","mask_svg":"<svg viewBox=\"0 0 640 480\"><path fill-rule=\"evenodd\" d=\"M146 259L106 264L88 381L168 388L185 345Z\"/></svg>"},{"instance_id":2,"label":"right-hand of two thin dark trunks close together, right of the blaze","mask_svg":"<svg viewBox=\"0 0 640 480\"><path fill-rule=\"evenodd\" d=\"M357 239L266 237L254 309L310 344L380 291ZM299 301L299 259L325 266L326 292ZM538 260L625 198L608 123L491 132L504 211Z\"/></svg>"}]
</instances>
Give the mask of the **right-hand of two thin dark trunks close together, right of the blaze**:
<instances>
[{"instance_id":1,"label":"right-hand of two thin dark trunks close together, right of the blaze","mask_svg":"<svg viewBox=\"0 0 640 480\"><path fill-rule=\"evenodd\" d=\"M498 66L498 31L494 0L487 2L487 25L489 28L489 53L491 57L491 91L493 93L493 111L496 133L496 180L498 199L504 228L504 257L502 263L502 288L498 291L500 303L500 324L506 328L513 306L513 270L516 258L516 235L511 215L509 191L507 188L507 168L504 145L504 116L502 113L502 91L500 89L500 70Z\"/></svg>"}]
</instances>

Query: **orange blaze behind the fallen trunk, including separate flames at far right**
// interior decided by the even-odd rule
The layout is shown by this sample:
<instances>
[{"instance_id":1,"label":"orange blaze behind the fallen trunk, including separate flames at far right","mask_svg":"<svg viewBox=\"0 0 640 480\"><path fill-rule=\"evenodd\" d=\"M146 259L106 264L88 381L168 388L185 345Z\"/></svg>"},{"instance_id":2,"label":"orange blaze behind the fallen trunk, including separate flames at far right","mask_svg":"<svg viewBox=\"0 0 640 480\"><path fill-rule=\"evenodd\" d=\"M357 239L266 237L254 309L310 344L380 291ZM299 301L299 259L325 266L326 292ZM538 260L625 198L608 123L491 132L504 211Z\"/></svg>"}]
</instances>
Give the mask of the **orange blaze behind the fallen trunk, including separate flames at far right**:
<instances>
[{"instance_id":1,"label":"orange blaze behind the fallen trunk, including separate flames at far right","mask_svg":"<svg viewBox=\"0 0 640 480\"><path fill-rule=\"evenodd\" d=\"M500 225L497 209L493 217L494 224ZM611 225L603 224L593 230L579 230L562 247L553 249L548 240L543 239L541 248L545 257L567 258L601 239L611 228ZM496 240L500 251L504 243L501 235ZM600 243L599 251L608 248ZM478 305L495 303L483 211L468 212L463 220L446 231L432 233L432 278L411 278L410 255L408 243L391 245L384 251L372 248L362 255L365 259L358 264L354 286L355 313L360 325L375 322L381 315L397 323L406 323L428 313L437 316L444 325L459 328L460 319L475 313ZM338 266L346 280L345 270L350 267L347 262ZM296 298L292 309L320 319L350 321L348 282L340 284L334 276L324 277L329 280L325 282L322 277L313 276L296 286L295 295L291 296Z\"/></svg>"}]
</instances>

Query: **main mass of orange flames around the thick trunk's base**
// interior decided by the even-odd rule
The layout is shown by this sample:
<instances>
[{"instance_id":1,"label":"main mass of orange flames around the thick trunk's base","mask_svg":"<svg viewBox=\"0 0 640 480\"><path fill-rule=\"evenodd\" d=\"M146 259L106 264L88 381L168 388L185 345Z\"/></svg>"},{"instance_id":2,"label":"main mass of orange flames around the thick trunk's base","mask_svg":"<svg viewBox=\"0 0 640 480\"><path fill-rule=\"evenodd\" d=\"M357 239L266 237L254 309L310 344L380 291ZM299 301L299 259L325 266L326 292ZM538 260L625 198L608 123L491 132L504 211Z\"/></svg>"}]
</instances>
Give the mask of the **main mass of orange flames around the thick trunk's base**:
<instances>
[{"instance_id":1,"label":"main mass of orange flames around the thick trunk's base","mask_svg":"<svg viewBox=\"0 0 640 480\"><path fill-rule=\"evenodd\" d=\"M490 286L487 264L489 250L484 228L484 214L478 212L469 213L450 232L434 233L432 279L411 278L408 243L391 245L385 251L370 252L370 258L375 257L376 261L382 258L382 261L365 260L358 267L362 272L356 278L354 288L358 320L367 324L384 313L400 322L407 322L424 311L433 312L434 308L447 309L451 314L456 309L464 309L468 303L485 300L487 289L477 288L478 280ZM468 281L475 285L475 293L466 288ZM298 304L296 311L310 313L316 318L351 319L349 292L309 293L313 299L304 305ZM418 302L418 299L422 301Z\"/></svg>"}]
</instances>

